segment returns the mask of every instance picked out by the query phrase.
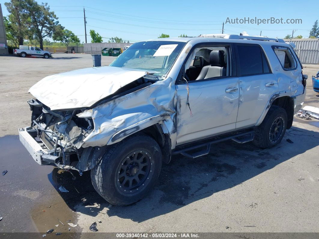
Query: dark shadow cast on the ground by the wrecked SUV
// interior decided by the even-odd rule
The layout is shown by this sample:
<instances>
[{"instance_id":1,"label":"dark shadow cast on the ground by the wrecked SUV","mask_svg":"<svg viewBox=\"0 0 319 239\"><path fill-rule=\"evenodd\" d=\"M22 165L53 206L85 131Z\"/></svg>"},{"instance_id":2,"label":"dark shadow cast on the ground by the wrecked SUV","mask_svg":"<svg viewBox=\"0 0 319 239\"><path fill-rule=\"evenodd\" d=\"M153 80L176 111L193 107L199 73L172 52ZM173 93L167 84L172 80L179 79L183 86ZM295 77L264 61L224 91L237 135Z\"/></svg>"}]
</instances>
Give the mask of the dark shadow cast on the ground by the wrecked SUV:
<instances>
[{"instance_id":1,"label":"dark shadow cast on the ground by the wrecked SUV","mask_svg":"<svg viewBox=\"0 0 319 239\"><path fill-rule=\"evenodd\" d=\"M288 143L286 138L293 140L294 144ZM208 155L197 159L174 156L168 165L163 164L155 189L146 198L126 207L110 206L104 201L94 191L89 173L72 180L70 173L55 168L48 177L50 180L53 178L56 185L63 185L70 191L60 194L74 211L94 217L107 207L104 212L108 216L142 222L245 183L318 146L318 138L318 132L292 127L281 144L271 149L262 150L251 143L226 141L214 145Z\"/></svg>"}]
</instances>

